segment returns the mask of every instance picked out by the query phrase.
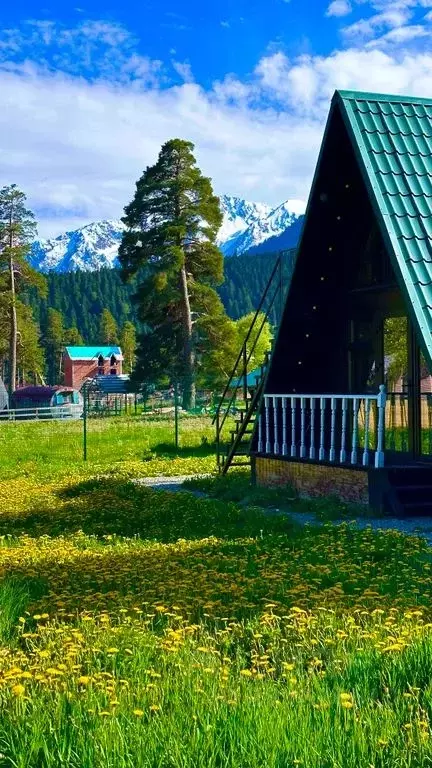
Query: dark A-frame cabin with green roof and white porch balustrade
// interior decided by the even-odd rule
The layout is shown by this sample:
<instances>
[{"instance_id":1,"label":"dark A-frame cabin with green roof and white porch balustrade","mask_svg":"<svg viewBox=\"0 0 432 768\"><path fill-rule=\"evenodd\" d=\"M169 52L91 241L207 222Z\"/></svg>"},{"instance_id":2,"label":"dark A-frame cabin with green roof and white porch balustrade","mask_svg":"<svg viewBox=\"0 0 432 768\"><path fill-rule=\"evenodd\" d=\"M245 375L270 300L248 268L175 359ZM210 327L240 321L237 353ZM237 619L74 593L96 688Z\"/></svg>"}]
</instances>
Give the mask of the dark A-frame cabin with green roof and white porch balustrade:
<instances>
[{"instance_id":1,"label":"dark A-frame cabin with green roof and white porch balustrade","mask_svg":"<svg viewBox=\"0 0 432 768\"><path fill-rule=\"evenodd\" d=\"M337 91L252 443L261 484L432 514L432 99Z\"/></svg>"}]
</instances>

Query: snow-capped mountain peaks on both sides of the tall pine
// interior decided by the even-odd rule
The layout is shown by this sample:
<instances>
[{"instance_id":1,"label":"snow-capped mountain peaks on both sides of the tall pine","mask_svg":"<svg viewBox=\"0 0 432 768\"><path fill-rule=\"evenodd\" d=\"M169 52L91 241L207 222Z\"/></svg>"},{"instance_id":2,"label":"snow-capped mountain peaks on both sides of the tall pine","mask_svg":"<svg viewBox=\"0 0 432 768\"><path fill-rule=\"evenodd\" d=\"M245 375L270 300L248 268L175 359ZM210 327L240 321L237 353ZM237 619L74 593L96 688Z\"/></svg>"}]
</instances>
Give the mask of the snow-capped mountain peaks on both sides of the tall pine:
<instances>
[{"instance_id":1,"label":"snow-capped mountain peaks on both sides of the tall pine","mask_svg":"<svg viewBox=\"0 0 432 768\"><path fill-rule=\"evenodd\" d=\"M223 195L220 201L223 221L217 242L225 256L244 253L269 238L273 243L275 237L290 227L293 227L296 241L299 217L305 207L301 201L287 200L273 209L264 203L250 203L228 195ZM124 224L120 219L108 219L65 232L56 238L36 240L29 261L41 272L93 271L101 267L115 267L118 266L117 252L123 231Z\"/></svg>"}]
</instances>

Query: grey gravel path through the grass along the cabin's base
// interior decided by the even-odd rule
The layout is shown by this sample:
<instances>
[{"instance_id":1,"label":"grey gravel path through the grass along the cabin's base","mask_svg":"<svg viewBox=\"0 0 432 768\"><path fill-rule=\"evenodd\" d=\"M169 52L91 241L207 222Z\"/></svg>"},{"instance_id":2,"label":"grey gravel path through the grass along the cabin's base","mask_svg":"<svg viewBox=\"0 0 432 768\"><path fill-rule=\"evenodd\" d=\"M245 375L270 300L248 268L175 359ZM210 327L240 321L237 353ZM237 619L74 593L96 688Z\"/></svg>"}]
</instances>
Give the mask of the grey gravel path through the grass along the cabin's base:
<instances>
[{"instance_id":1,"label":"grey gravel path through the grass along the cabin's base","mask_svg":"<svg viewBox=\"0 0 432 768\"><path fill-rule=\"evenodd\" d=\"M208 477L208 475L194 475L194 477ZM184 491L188 490L183 488L183 483L188 480L190 475L179 475L177 477L144 477L135 480L138 485L146 485L155 490L163 491ZM206 494L202 491L189 491L197 497L205 497ZM276 513L278 510L274 510ZM314 514L307 512L290 512L290 517L299 523L323 525L321 520L318 520ZM417 535L426 539L429 546L432 546L432 517L409 517L405 520L396 517L353 517L352 521L355 522L358 528L367 528L370 526L375 530L397 530L401 533L408 535ZM344 522L343 520L334 520L335 525Z\"/></svg>"}]
</instances>

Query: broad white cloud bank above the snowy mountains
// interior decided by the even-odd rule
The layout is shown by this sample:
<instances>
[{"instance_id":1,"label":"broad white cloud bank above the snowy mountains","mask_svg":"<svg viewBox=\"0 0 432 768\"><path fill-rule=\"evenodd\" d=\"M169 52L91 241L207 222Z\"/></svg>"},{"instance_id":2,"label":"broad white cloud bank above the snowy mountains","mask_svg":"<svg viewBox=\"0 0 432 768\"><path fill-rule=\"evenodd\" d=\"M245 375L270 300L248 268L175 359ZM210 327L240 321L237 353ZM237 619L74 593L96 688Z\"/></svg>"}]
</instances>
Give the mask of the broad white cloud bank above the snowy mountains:
<instances>
[{"instance_id":1,"label":"broad white cloud bank above the snowy mountains","mask_svg":"<svg viewBox=\"0 0 432 768\"><path fill-rule=\"evenodd\" d=\"M219 194L306 200L335 88L432 96L430 53L349 48L290 59L279 51L250 78L229 75L205 91L164 79L161 63L140 56L127 37L125 54L121 30L116 38L115 30L92 29L110 44L118 39L115 77L105 64L91 79L75 75L66 43L63 72L43 57L32 63L27 49L26 61L0 64L2 183L27 193L44 236L121 216L135 181L173 137L195 143ZM183 79L189 72L184 63L177 71Z\"/></svg>"}]
</instances>

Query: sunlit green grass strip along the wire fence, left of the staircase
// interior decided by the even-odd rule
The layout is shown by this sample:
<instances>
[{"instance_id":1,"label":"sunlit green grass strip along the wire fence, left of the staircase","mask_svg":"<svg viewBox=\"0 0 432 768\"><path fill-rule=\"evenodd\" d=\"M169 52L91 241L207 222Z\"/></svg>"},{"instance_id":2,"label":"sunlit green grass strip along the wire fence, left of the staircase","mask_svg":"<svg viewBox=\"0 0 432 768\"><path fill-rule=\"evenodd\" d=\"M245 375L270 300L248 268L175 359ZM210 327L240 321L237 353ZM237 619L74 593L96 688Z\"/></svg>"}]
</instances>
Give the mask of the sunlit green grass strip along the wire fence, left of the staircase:
<instances>
[{"instance_id":1,"label":"sunlit green grass strip along the wire fence, left of the staircase","mask_svg":"<svg viewBox=\"0 0 432 768\"><path fill-rule=\"evenodd\" d=\"M173 417L112 417L88 420L87 457L83 462L83 422L29 421L0 424L0 473L3 478L73 471L121 469L133 464L154 474L154 459L176 457L177 474L215 469L214 428L209 417L180 418L180 448L174 448ZM166 464L166 462L165 462ZM182 466L183 465L183 466ZM201 469L200 469L201 467ZM156 468L156 465L155 465ZM157 472L161 473L160 469ZM157 473L156 472L156 473ZM171 473L172 474L172 473Z\"/></svg>"}]
</instances>

